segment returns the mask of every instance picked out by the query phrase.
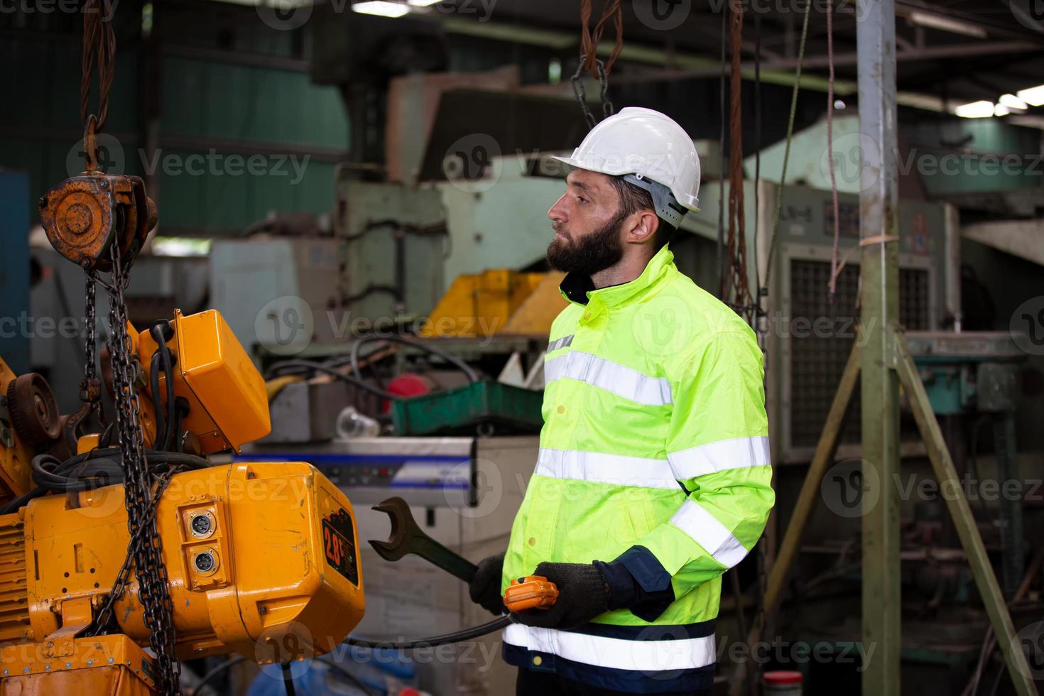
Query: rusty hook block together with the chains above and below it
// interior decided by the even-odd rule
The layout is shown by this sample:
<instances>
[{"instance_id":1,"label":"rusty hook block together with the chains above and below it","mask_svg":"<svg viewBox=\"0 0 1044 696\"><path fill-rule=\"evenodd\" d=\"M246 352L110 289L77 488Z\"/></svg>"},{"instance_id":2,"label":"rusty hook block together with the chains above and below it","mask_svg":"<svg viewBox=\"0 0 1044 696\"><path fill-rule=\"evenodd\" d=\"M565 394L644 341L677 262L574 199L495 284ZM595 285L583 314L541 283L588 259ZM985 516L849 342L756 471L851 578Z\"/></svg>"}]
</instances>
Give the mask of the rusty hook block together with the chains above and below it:
<instances>
[{"instance_id":1,"label":"rusty hook block together with the chains above and below it","mask_svg":"<svg viewBox=\"0 0 1044 696\"><path fill-rule=\"evenodd\" d=\"M156 209L137 177L108 175L98 171L98 134L109 117L109 93L116 65L116 34L111 21L112 0L87 0L84 6L84 54L80 76L80 119L84 123L85 174L65 182L41 199L41 219L48 239L63 256L77 263L87 274L86 364L80 383L81 412L100 403L100 381L95 373L97 350L96 286L109 294L109 355L113 371L116 429L123 470L123 495L129 542L123 565L109 597L88 635L103 632L116 603L126 595L132 571L138 582L148 644L155 654L157 686L164 696L181 693L181 665L174 657L176 635L173 604L167 570L163 563L163 542L156 529L156 510L170 480L173 467L155 477L149 473L140 422L137 382L140 365L127 333L127 309L123 292L128 271L145 236L156 225ZM91 87L97 69L98 112L91 113ZM97 202L99 218L81 219L70 201L87 197ZM93 226L92 226L93 225ZM111 262L111 268L110 263ZM110 271L110 283L100 271ZM73 433L70 433L72 435Z\"/></svg>"}]
</instances>

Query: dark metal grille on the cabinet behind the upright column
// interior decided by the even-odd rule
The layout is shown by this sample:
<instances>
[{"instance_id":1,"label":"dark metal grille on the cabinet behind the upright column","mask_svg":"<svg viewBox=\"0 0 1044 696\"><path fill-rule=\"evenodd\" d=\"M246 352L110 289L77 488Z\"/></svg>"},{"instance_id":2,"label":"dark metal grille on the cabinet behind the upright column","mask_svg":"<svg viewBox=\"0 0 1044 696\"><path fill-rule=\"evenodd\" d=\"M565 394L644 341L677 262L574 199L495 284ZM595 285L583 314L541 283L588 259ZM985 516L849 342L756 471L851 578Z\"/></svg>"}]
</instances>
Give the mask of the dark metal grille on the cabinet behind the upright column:
<instances>
[{"instance_id":1,"label":"dark metal grille on the cabinet behind the upright column","mask_svg":"<svg viewBox=\"0 0 1044 696\"><path fill-rule=\"evenodd\" d=\"M911 330L929 328L929 273L921 268L899 271L899 319ZM791 320L783 327L790 342L790 446L815 447L855 340L859 266L848 264L837 279L837 294L828 297L830 264L790 260ZM858 387L852 397L843 442L859 440Z\"/></svg>"}]
</instances>

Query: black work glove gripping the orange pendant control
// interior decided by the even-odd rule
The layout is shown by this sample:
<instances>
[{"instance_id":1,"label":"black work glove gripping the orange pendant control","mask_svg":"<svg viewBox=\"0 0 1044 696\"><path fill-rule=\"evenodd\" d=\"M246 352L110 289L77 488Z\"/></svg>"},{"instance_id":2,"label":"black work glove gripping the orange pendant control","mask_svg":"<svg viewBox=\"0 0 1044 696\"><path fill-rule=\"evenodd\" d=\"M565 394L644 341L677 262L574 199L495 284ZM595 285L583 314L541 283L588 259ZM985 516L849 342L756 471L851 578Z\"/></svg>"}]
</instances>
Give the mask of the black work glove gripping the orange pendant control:
<instances>
[{"instance_id":1,"label":"black work glove gripping the orange pendant control","mask_svg":"<svg viewBox=\"0 0 1044 696\"><path fill-rule=\"evenodd\" d=\"M549 609L512 613L518 623L540 628L576 628L609 609L606 577L591 563L537 566L532 575L543 575L559 587L559 599Z\"/></svg>"}]
</instances>

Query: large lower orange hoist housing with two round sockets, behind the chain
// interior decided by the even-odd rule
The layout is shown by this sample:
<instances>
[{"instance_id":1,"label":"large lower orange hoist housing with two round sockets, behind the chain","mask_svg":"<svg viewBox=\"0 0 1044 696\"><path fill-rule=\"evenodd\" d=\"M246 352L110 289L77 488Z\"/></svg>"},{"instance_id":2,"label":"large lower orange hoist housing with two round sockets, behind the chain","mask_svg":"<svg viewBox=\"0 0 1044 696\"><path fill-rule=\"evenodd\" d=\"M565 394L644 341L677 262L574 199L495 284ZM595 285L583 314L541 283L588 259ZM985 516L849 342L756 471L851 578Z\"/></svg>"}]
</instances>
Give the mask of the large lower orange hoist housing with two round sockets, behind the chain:
<instances>
[{"instance_id":1,"label":"large lower orange hoist housing with two round sockets, behind the chain","mask_svg":"<svg viewBox=\"0 0 1044 696\"><path fill-rule=\"evenodd\" d=\"M265 664L322 654L362 619L352 505L308 463L177 474L157 527L179 658L235 651ZM75 504L38 498L0 517L0 643L71 650L108 596L127 541L122 486L80 493ZM147 645L133 575L128 586L114 616L122 633Z\"/></svg>"}]
</instances>

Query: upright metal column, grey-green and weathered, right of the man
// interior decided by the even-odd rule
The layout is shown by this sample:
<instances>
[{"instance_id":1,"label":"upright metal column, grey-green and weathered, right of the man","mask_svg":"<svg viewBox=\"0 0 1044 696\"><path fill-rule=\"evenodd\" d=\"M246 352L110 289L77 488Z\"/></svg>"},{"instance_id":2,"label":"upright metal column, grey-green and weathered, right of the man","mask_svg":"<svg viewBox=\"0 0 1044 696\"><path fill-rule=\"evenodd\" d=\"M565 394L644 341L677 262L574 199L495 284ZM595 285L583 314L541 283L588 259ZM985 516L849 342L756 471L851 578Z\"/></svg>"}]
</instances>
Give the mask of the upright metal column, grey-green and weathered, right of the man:
<instances>
[{"instance_id":1,"label":"upright metal column, grey-green and weathered, right of the man","mask_svg":"<svg viewBox=\"0 0 1044 696\"><path fill-rule=\"evenodd\" d=\"M894 0L868 0L856 23L862 168L862 458L880 495L862 518L862 643L874 657L862 693L899 694L899 388L893 325L899 321L899 187L896 168L896 11ZM864 472L864 481L872 481ZM868 500L868 497L863 497ZM870 653L871 646L874 652Z\"/></svg>"}]
</instances>

